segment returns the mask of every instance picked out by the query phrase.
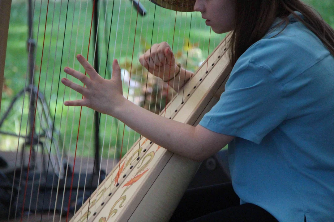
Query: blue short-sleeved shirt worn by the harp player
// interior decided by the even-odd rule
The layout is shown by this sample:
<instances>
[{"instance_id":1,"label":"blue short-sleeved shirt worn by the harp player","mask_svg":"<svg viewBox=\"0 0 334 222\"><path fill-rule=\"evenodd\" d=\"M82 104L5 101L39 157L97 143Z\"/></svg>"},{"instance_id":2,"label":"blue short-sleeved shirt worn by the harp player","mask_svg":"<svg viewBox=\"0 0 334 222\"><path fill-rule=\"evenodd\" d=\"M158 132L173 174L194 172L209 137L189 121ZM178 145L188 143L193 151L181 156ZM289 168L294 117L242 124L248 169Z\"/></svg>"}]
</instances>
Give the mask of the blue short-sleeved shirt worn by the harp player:
<instances>
[{"instance_id":1,"label":"blue short-sleeved shirt worn by the harp player","mask_svg":"<svg viewBox=\"0 0 334 222\"><path fill-rule=\"evenodd\" d=\"M241 203L279 221L334 221L334 57L289 18L238 59L199 124L236 136L228 154Z\"/></svg>"}]
</instances>

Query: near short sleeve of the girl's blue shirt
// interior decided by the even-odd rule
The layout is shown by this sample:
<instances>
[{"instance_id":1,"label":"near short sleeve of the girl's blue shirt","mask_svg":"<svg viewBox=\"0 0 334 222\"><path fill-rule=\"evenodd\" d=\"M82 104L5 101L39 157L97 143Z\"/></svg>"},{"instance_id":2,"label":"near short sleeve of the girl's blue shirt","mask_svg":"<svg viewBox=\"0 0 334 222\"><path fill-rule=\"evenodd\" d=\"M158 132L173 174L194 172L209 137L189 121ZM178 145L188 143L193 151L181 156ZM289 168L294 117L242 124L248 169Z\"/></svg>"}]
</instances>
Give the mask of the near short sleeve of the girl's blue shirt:
<instances>
[{"instance_id":1,"label":"near short sleeve of the girl's blue shirt","mask_svg":"<svg viewBox=\"0 0 334 222\"><path fill-rule=\"evenodd\" d=\"M199 124L260 144L287 117L283 86L269 70L252 62L236 66L218 103Z\"/></svg>"}]
</instances>

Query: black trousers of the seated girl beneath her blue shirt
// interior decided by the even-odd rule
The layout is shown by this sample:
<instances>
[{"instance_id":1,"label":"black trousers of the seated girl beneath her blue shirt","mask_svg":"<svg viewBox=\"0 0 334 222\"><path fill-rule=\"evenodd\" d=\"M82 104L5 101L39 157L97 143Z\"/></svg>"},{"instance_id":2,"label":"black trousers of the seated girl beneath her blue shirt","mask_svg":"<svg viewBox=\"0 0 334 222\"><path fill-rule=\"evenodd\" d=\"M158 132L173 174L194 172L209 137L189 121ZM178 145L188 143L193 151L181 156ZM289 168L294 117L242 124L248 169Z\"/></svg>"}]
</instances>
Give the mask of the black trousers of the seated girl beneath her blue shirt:
<instances>
[{"instance_id":1,"label":"black trousers of the seated girl beneath her blue shirt","mask_svg":"<svg viewBox=\"0 0 334 222\"><path fill-rule=\"evenodd\" d=\"M255 204L242 204L232 183L188 189L170 222L178 221L277 221Z\"/></svg>"}]
</instances>

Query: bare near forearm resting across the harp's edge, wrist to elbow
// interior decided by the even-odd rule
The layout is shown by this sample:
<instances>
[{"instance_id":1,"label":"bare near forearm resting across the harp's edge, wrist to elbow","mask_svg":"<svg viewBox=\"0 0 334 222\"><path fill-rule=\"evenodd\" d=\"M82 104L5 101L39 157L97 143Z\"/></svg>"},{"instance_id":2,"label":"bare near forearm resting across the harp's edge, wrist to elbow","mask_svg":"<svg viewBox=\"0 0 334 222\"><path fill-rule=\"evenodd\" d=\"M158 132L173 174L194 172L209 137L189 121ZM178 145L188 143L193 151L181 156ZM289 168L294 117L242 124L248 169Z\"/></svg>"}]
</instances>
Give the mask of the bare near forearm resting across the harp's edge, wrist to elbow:
<instances>
[{"instance_id":1,"label":"bare near forearm resting across the harp's edge, wrist to elbow","mask_svg":"<svg viewBox=\"0 0 334 222\"><path fill-rule=\"evenodd\" d=\"M125 100L113 116L154 143L194 161L200 161L201 147L195 127L154 114Z\"/></svg>"}]
</instances>

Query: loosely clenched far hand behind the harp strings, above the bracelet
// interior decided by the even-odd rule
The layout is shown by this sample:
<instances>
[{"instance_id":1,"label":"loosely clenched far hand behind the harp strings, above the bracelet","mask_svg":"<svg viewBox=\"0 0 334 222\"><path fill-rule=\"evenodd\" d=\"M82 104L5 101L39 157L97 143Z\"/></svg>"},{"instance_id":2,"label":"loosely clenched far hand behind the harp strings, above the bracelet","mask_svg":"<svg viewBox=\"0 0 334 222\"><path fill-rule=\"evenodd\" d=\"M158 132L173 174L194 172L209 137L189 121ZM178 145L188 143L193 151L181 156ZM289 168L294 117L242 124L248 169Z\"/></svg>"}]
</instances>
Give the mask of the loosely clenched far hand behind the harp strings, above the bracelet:
<instances>
[{"instance_id":1,"label":"loosely clenched far hand behind the harp strings, above the bracelet","mask_svg":"<svg viewBox=\"0 0 334 222\"><path fill-rule=\"evenodd\" d=\"M154 44L139 57L139 62L154 76L168 81L179 71L173 52L167 42Z\"/></svg>"}]
</instances>

